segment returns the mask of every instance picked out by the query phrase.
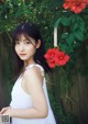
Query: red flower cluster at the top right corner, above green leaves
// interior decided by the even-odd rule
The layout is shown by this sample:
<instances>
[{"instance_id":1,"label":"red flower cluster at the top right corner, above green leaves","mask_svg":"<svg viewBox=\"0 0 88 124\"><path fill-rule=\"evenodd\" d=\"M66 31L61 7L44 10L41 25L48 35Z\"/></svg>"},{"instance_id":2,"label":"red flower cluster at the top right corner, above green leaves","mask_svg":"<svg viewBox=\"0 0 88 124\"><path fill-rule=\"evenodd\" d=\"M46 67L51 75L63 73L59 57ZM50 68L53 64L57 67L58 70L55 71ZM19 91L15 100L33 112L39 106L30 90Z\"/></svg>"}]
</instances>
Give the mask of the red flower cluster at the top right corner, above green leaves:
<instances>
[{"instance_id":1,"label":"red flower cluster at the top right corner, above green leaves","mask_svg":"<svg viewBox=\"0 0 88 124\"><path fill-rule=\"evenodd\" d=\"M63 7L64 9L70 9L75 13L80 13L87 4L87 0L65 0Z\"/></svg>"}]
</instances>

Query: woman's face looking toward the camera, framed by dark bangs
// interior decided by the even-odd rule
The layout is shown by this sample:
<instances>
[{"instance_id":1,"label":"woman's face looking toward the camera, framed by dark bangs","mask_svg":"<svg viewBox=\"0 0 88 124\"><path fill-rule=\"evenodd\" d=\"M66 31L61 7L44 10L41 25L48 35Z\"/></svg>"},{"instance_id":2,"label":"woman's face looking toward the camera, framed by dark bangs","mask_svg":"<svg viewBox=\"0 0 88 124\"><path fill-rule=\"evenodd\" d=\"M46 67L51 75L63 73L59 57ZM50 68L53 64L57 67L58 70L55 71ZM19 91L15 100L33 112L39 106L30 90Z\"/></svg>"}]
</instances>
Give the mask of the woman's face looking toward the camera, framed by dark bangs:
<instances>
[{"instance_id":1,"label":"woman's face looking toward the camera, framed by dark bangs","mask_svg":"<svg viewBox=\"0 0 88 124\"><path fill-rule=\"evenodd\" d=\"M15 41L14 49L21 60L25 63L34 61L33 56L36 50L36 44L32 37L29 37L29 40L26 40L23 34L19 36L19 40Z\"/></svg>"}]
</instances>

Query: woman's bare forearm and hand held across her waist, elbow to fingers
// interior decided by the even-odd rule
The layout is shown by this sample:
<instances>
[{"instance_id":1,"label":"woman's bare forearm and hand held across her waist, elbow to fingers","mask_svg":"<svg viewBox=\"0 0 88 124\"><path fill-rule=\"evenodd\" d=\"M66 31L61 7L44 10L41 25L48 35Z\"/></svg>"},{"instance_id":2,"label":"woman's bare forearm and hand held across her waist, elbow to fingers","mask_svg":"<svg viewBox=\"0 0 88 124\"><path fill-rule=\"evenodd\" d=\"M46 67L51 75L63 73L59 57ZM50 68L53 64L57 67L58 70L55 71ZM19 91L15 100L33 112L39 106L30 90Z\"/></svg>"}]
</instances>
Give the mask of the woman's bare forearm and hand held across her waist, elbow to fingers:
<instances>
[{"instance_id":1,"label":"woman's bare forearm and hand held across her waist, elbow to fingers","mask_svg":"<svg viewBox=\"0 0 88 124\"><path fill-rule=\"evenodd\" d=\"M10 109L3 115L20 119L43 119L47 116L47 113L45 112L45 110L38 111L35 109Z\"/></svg>"}]
</instances>

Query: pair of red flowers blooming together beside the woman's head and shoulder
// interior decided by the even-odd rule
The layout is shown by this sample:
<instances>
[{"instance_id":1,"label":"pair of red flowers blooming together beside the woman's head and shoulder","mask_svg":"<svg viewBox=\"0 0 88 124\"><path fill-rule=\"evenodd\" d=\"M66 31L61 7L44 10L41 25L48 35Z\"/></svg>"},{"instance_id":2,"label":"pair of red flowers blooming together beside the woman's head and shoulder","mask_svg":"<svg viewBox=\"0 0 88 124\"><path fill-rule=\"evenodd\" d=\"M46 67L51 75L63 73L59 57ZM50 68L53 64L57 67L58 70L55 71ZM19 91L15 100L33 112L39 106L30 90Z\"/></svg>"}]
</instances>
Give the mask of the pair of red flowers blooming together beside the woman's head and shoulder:
<instances>
[{"instance_id":1,"label":"pair of red flowers blooming together beside the woman's head and shoulder","mask_svg":"<svg viewBox=\"0 0 88 124\"><path fill-rule=\"evenodd\" d=\"M61 52L58 48L50 48L44 57L51 68L55 68L56 66L65 66L69 60L69 56L66 55L65 52Z\"/></svg>"}]
</instances>

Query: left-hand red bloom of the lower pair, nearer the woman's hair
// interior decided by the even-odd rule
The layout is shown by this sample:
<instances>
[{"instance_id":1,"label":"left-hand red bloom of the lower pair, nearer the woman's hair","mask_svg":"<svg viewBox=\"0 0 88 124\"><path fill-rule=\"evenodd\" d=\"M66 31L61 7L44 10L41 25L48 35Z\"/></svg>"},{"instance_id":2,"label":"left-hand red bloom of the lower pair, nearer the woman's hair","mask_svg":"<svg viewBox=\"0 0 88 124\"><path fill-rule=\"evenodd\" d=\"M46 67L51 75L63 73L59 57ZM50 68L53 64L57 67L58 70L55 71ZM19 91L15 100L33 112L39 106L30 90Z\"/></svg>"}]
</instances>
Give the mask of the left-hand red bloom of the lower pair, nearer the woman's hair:
<instances>
[{"instance_id":1,"label":"left-hand red bloom of the lower pair, nearer the woman's hair","mask_svg":"<svg viewBox=\"0 0 88 124\"><path fill-rule=\"evenodd\" d=\"M57 53L58 53L58 48L50 48L47 53L44 55L51 68L55 68L56 66L55 58Z\"/></svg>"}]
</instances>

